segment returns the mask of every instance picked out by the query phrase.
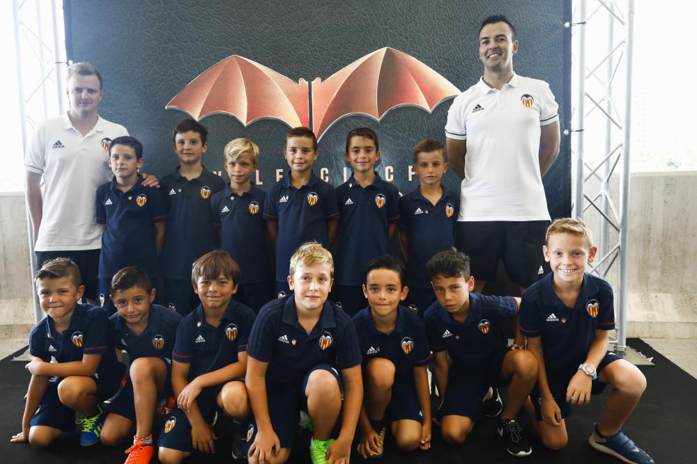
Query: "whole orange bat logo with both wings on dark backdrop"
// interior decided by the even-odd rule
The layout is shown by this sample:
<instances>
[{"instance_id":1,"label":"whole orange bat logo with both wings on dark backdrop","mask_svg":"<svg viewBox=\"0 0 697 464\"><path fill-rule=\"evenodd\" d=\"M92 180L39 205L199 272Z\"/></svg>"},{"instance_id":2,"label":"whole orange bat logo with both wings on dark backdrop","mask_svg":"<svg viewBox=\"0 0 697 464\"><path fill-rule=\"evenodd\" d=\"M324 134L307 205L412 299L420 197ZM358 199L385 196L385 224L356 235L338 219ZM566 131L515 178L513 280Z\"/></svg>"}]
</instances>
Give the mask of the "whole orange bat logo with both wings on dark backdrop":
<instances>
[{"instance_id":1,"label":"whole orange bat logo with both wings on dark backdrop","mask_svg":"<svg viewBox=\"0 0 697 464\"><path fill-rule=\"evenodd\" d=\"M332 74L297 83L243 56L229 56L199 74L165 106L201 120L227 113L245 127L272 118L290 127L305 126L321 139L346 115L379 121L399 106L431 111L460 91L416 58L384 47ZM312 120L309 96L312 95Z\"/></svg>"}]
</instances>

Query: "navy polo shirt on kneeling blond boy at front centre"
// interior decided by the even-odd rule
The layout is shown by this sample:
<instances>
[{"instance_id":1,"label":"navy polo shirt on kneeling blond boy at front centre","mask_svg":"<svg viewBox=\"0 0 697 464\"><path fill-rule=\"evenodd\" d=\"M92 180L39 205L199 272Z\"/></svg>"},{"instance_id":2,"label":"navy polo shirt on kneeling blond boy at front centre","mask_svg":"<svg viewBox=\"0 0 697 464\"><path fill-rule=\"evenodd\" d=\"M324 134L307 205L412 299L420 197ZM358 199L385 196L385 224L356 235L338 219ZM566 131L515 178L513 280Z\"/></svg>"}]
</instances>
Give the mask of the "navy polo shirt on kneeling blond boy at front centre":
<instances>
[{"instance_id":1,"label":"navy polo shirt on kneeling blond boy at front centre","mask_svg":"<svg viewBox=\"0 0 697 464\"><path fill-rule=\"evenodd\" d=\"M293 294L270 301L254 321L247 354L268 362L266 384L297 387L312 367L360 365L360 349L348 314L325 301L319 321L307 335L298 322Z\"/></svg>"}]
</instances>

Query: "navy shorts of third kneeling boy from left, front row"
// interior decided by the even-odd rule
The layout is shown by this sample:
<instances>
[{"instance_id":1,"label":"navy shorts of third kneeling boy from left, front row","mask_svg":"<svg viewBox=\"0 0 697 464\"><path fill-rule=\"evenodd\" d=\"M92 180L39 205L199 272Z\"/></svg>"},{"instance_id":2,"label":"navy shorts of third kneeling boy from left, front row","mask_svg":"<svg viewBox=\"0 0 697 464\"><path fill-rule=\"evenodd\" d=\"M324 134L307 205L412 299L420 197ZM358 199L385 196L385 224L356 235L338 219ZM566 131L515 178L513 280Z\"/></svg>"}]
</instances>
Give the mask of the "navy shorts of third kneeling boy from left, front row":
<instances>
[{"instance_id":1,"label":"navy shorts of third kneeling boy from left, front row","mask_svg":"<svg viewBox=\"0 0 697 464\"><path fill-rule=\"evenodd\" d=\"M217 407L217 394L220 392L222 385L208 387L201 390L196 398L197 406L201 411L201 416L206 421L206 424L213 426L215 413L219 409ZM167 416L158 438L158 446L169 449L177 449L186 453L192 453L194 447L191 442L191 424L187 419L184 411L178 406L172 408L171 413Z\"/></svg>"}]
</instances>

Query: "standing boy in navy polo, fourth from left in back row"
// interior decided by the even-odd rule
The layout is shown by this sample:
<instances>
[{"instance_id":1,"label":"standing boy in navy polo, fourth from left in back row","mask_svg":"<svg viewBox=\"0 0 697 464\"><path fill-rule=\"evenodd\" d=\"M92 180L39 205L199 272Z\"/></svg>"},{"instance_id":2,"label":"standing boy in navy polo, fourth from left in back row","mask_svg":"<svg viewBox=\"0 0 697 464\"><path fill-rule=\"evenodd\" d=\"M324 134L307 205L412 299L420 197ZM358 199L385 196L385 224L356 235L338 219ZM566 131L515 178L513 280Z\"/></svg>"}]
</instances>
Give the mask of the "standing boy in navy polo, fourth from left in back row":
<instances>
[{"instance_id":1,"label":"standing boy in navy polo, fourth from left in back row","mask_svg":"<svg viewBox=\"0 0 697 464\"><path fill-rule=\"evenodd\" d=\"M306 241L328 247L337 237L339 211L334 187L312 173L317 159L317 138L307 127L286 133L284 157L290 170L268 193L263 218L268 235L276 244L276 291L289 291L288 262Z\"/></svg>"}]
</instances>

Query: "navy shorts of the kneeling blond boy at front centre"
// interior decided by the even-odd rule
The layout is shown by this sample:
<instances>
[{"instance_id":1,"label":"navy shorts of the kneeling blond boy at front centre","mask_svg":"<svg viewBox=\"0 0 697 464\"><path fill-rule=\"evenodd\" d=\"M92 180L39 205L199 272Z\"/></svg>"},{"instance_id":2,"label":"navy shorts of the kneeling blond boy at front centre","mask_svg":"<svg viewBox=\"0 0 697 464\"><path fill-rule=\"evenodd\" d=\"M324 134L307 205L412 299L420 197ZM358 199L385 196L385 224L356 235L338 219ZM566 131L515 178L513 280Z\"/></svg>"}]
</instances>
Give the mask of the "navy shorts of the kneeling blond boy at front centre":
<instances>
[{"instance_id":1,"label":"navy shorts of the kneeling blond boy at front centre","mask_svg":"<svg viewBox=\"0 0 697 464\"><path fill-rule=\"evenodd\" d=\"M278 440L281 442L282 448L292 448L293 441L296 438L298 422L300 421L300 410L307 410L307 397L305 397L305 388L310 374L317 369L329 371L339 384L339 391L342 392L342 401L344 399L344 383L339 371L328 364L316 365L305 374L300 387L287 386L271 386L266 385L266 400L268 403L268 415L271 419L271 426L276 433ZM337 420L337 424L340 422ZM252 418L252 422L247 429L247 452L250 451L254 439L256 438L256 420Z\"/></svg>"}]
</instances>

